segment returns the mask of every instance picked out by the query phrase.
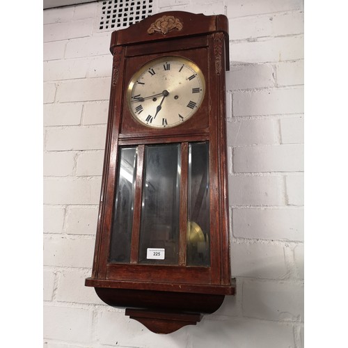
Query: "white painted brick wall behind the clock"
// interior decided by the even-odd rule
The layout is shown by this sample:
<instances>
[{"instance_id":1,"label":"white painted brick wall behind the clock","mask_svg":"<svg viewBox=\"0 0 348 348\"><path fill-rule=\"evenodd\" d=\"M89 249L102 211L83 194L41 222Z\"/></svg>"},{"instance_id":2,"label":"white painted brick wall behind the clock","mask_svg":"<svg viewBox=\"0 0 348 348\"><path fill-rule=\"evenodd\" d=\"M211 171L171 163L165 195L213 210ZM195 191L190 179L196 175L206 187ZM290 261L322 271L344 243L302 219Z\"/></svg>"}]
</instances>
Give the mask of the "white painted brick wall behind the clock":
<instances>
[{"instance_id":1,"label":"white painted brick wall behind the clock","mask_svg":"<svg viewBox=\"0 0 348 348\"><path fill-rule=\"evenodd\" d=\"M109 109L97 2L44 10L44 347L303 348L303 0L161 0L225 14L231 268L237 294L197 326L151 333L84 286Z\"/></svg>"}]
</instances>

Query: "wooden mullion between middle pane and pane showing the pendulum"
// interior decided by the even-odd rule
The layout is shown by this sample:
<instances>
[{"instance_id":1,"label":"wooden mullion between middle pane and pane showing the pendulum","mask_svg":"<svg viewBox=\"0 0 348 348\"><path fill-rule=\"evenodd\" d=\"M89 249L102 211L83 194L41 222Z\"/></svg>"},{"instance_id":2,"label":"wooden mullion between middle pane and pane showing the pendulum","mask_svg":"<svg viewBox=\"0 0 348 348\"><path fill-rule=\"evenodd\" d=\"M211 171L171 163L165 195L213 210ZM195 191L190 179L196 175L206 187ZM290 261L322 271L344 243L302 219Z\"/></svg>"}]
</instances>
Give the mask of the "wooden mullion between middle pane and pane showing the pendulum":
<instances>
[{"instance_id":1,"label":"wooden mullion between middle pane and pane showing the pendulum","mask_svg":"<svg viewBox=\"0 0 348 348\"><path fill-rule=\"evenodd\" d=\"M187 262L187 187L189 180L189 143L181 144L181 177L180 177L180 234L179 265Z\"/></svg>"}]
</instances>

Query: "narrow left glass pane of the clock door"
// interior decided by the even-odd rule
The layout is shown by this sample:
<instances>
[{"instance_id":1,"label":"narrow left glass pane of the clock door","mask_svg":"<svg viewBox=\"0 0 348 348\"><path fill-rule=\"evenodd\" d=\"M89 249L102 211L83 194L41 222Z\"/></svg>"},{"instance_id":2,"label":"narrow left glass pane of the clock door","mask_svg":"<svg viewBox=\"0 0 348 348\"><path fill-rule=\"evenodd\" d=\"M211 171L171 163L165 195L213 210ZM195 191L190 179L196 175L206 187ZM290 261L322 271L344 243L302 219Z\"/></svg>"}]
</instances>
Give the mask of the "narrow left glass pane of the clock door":
<instances>
[{"instance_id":1,"label":"narrow left glass pane of the clock door","mask_svg":"<svg viewBox=\"0 0 348 348\"><path fill-rule=\"evenodd\" d=\"M129 262L132 238L136 148L120 148L110 242L110 262Z\"/></svg>"}]
</instances>

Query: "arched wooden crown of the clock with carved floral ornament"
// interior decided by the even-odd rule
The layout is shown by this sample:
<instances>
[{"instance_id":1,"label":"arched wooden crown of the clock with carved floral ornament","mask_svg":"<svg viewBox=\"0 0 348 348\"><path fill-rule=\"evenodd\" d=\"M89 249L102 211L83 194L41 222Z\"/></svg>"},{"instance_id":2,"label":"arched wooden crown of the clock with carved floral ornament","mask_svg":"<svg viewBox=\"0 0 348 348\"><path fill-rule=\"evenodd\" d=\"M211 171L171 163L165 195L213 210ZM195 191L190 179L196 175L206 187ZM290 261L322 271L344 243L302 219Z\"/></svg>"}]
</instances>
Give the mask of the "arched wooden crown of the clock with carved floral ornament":
<instances>
[{"instance_id":1,"label":"arched wooden crown of the clock with carved floral ornament","mask_svg":"<svg viewBox=\"0 0 348 348\"><path fill-rule=\"evenodd\" d=\"M223 33L225 45L228 47L228 18L225 15L206 16L202 13L185 11L167 11L157 13L132 24L127 29L113 31L111 34L110 52L118 46L159 42L171 38L190 38L195 35ZM226 49L226 70L230 70L229 51Z\"/></svg>"}]
</instances>

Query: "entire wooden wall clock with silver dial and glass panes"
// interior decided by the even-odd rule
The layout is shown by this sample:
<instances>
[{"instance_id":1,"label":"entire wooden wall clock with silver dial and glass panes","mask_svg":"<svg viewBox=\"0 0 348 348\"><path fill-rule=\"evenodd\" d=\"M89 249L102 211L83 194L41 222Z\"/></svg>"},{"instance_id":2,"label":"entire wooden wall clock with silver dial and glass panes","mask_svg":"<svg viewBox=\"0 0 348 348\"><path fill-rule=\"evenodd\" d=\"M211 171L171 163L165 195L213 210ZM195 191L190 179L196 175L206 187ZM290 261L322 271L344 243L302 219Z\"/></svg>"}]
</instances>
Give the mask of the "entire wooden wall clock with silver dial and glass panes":
<instances>
[{"instance_id":1,"label":"entire wooden wall clock with silver dial and glass panes","mask_svg":"<svg viewBox=\"0 0 348 348\"><path fill-rule=\"evenodd\" d=\"M230 276L223 15L159 13L111 35L113 73L92 276L156 333L196 324Z\"/></svg>"}]
</instances>

